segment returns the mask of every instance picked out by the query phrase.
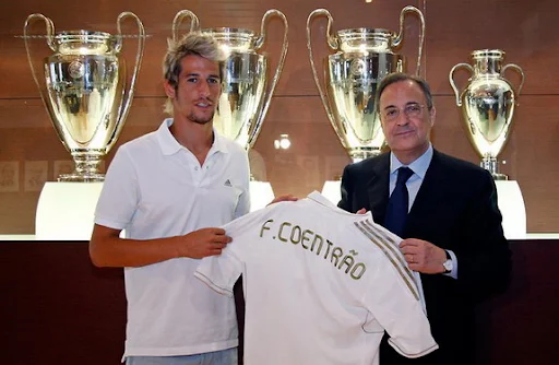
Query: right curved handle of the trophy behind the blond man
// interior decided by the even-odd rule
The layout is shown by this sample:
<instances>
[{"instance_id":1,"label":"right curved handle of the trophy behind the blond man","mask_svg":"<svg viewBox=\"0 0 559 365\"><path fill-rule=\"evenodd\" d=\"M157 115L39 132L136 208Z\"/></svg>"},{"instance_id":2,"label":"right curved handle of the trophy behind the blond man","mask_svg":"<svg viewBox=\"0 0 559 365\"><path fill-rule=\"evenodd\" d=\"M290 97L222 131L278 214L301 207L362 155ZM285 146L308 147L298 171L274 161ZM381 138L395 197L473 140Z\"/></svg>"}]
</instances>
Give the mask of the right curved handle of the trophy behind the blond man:
<instances>
[{"instance_id":1,"label":"right curved handle of the trophy behind the blond man","mask_svg":"<svg viewBox=\"0 0 559 365\"><path fill-rule=\"evenodd\" d=\"M265 26L267 24L267 20L270 19L270 16L274 16L274 15L280 16L282 19L282 21L284 22L284 39L283 39L283 44L282 44L282 54L280 56L280 61L277 63L277 68L275 69L274 78L272 79L272 84L265 92L262 111L260 113L260 115L258 117L258 120L254 126L252 134L249 137L249 146L252 146L252 144L254 144L254 142L257 141L258 134L260 133L260 128L262 126L262 121L264 120L264 117L267 113L267 108L270 107L270 102L272 101L272 95L274 94L275 86L277 85L277 81L280 80L282 70L284 69L285 57L287 55L287 46L288 46L287 19L285 17L285 14L283 12L281 12L280 10L276 10L276 9L271 9L271 10L266 11L264 13L264 16L262 16L262 23L260 25L260 36L254 42L254 49L258 50L264 45L265 39L266 39Z\"/></svg>"}]
</instances>

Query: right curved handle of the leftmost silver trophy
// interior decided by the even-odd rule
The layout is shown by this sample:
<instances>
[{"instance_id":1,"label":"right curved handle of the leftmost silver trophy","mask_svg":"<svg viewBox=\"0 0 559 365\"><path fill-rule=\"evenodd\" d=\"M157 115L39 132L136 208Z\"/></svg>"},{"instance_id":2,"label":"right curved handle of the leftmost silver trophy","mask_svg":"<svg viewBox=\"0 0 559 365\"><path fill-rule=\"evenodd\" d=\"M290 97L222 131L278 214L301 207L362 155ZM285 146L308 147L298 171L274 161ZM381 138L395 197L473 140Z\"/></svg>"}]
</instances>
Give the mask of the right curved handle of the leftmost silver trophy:
<instances>
[{"instance_id":1,"label":"right curved handle of the leftmost silver trophy","mask_svg":"<svg viewBox=\"0 0 559 365\"><path fill-rule=\"evenodd\" d=\"M133 17L138 25L138 51L135 55L135 64L134 64L134 71L132 72L132 78L130 81L130 87L128 87L128 91L126 90L126 87L122 91L122 103L119 108L119 115L118 115L118 119L117 119L117 129L115 130L114 136L120 134L120 131L122 130L122 127L124 126L123 121L128 116L128 111L130 111L130 106L132 105L132 98L134 97L135 79L138 76L138 72L140 71L140 68L142 66L142 57L144 54L144 45L145 45L144 25L142 24L142 21L140 21L138 15L135 15L134 13L132 13L130 11L121 12L118 15L118 19L117 19L117 30L118 30L117 42L118 42L118 44L117 44L116 49L117 49L117 51L120 51L120 49L122 48L123 36L122 36L122 31L121 31L121 22L124 17L129 17L129 16ZM108 152L116 142L117 142L117 139L112 138L112 140L109 143L107 143L106 152Z\"/></svg>"}]
</instances>

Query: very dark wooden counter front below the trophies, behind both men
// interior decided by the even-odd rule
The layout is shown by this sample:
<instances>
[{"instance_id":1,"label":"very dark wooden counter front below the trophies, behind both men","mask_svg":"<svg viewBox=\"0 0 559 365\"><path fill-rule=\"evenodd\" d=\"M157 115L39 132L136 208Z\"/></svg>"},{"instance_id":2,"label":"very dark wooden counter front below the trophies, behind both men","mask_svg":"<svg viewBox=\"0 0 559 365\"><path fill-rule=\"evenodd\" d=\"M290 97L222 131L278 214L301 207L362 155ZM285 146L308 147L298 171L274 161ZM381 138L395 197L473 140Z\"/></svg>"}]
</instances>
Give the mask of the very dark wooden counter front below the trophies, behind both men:
<instances>
[{"instance_id":1,"label":"very dark wooden counter front below the trophies, behind both men","mask_svg":"<svg viewBox=\"0 0 559 365\"><path fill-rule=\"evenodd\" d=\"M479 307L477 364L556 364L559 240L514 240L511 248L509 291ZM121 269L93 267L86 243L2 242L0 258L2 363L120 363Z\"/></svg>"}]
</instances>

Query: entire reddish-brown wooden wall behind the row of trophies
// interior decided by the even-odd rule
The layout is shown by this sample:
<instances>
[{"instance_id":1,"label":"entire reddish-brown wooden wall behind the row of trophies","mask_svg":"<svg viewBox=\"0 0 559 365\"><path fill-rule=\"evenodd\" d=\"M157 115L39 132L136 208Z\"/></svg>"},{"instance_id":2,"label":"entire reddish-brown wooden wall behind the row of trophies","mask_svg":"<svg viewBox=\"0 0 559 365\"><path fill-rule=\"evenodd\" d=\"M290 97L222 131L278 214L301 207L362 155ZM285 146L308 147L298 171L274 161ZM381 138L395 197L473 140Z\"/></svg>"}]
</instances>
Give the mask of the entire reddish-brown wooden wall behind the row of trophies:
<instances>
[{"instance_id":1,"label":"entire reddish-brown wooden wall behind the row of trophies","mask_svg":"<svg viewBox=\"0 0 559 365\"><path fill-rule=\"evenodd\" d=\"M306 35L309 13L318 8L328 9L334 19L334 31L382 27L397 32L400 11L409 3L423 9L426 17L421 74L430 82L435 94L438 117L432 140L439 150L475 163L479 160L464 134L448 81L454 64L469 62L474 49L500 48L507 52L504 63L518 63L523 68L526 83L519 98L514 130L500 156L507 164L501 164L500 168L516 179L523 190L528 232L558 232L559 213L554 207L559 203L555 184L559 178L556 162L559 152L556 143L559 139L559 71L552 64L559 49L558 42L551 36L556 24L554 14L559 10L556 1L206 0L185 3L176 0L93 0L85 5L69 0L31 0L0 4L0 165L8 165L8 169L16 166L19 184L16 191L0 191L0 233L34 231L38 192L25 190L25 174L31 174L37 166L33 163L46 162L47 179L51 180L55 179L55 163L70 160L52 130L27 64L21 35L28 14L44 13L52 19L57 31L87 28L115 33L117 15L124 10L133 11L143 21L148 35L144 61L138 76L136 97L118 148L154 130L164 118L160 59L177 11L192 10L203 28L243 27L257 33L267 9L283 11L289 23L289 50L251 161L255 175L271 181L276 193L304 196L320 190L324 180L340 175L349 163L330 126L312 78ZM408 71L414 71L418 20L411 16L405 24L406 37L399 52L407 56ZM326 47L325 27L325 19L312 23L312 45L319 72L321 60L332 52ZM31 31L41 34L44 26L39 22ZM131 22L124 25L124 33L134 32ZM278 19L269 23L264 50L272 69L277 64L282 32L283 24ZM44 39L33 40L32 46L37 55L50 52ZM127 40L124 47L124 58L131 63L135 44ZM508 73L508 78L518 81L513 80L513 73ZM457 79L463 84L467 82L467 74L461 73ZM289 134L293 142L287 151L274 149L274 140L282 133ZM106 164L110 163L116 148L107 156Z\"/></svg>"}]
</instances>

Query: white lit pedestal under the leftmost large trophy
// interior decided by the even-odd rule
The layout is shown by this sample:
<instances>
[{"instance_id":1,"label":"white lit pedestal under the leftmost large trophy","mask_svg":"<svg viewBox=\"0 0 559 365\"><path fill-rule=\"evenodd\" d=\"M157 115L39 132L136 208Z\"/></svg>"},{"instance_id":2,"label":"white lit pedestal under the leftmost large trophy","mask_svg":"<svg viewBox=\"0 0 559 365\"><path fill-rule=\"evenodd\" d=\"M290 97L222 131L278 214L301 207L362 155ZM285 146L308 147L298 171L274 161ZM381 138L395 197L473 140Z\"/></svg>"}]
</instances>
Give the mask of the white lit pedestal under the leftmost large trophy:
<instances>
[{"instance_id":1,"label":"white lit pedestal under the leftmost large trophy","mask_svg":"<svg viewBox=\"0 0 559 365\"><path fill-rule=\"evenodd\" d=\"M90 240L103 182L47 181L35 215L38 240Z\"/></svg>"}]
</instances>

